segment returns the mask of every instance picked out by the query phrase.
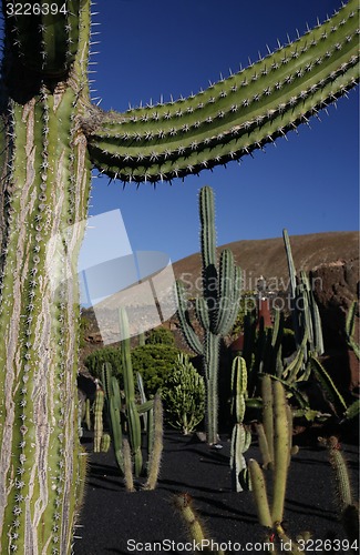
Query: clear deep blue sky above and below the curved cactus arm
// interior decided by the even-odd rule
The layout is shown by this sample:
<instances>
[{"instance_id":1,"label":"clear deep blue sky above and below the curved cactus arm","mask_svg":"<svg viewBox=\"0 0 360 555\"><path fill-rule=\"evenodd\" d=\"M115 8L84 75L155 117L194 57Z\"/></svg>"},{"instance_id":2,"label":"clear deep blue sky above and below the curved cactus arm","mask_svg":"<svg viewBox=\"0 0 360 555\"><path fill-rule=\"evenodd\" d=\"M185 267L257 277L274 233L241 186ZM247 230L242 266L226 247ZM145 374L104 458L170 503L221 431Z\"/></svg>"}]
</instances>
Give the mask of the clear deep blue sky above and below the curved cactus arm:
<instances>
[{"instance_id":1,"label":"clear deep blue sky above and below the curved cactus arm","mask_svg":"<svg viewBox=\"0 0 360 555\"><path fill-rule=\"evenodd\" d=\"M106 0L93 29L100 44L94 97L124 111L140 101L178 98L206 88L229 68L266 56L277 39L292 39L332 14L339 0ZM255 159L228 164L184 183L94 183L92 213L120 208L134 250L160 250L173 261L198 250L197 194L216 192L218 244L240 239L358 229L358 91L341 99L321 123L302 125Z\"/></svg>"}]
</instances>

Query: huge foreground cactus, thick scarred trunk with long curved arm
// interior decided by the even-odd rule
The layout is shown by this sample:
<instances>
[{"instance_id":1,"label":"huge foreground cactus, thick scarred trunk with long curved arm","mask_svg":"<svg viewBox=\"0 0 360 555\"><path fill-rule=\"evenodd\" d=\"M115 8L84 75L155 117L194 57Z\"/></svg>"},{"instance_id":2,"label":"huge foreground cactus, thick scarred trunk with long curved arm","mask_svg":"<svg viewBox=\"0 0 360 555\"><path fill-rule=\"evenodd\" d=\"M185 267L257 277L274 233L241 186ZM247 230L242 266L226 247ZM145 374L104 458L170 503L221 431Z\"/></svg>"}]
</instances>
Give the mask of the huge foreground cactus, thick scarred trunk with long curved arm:
<instances>
[{"instance_id":1,"label":"huge foreground cactus, thick scarred trunk with long curved arm","mask_svg":"<svg viewBox=\"0 0 360 555\"><path fill-rule=\"evenodd\" d=\"M90 0L3 0L2 12L0 551L66 554L84 466L72 278L91 167L171 180L306 122L358 81L358 2L198 95L124 114L90 102Z\"/></svg>"}]
</instances>

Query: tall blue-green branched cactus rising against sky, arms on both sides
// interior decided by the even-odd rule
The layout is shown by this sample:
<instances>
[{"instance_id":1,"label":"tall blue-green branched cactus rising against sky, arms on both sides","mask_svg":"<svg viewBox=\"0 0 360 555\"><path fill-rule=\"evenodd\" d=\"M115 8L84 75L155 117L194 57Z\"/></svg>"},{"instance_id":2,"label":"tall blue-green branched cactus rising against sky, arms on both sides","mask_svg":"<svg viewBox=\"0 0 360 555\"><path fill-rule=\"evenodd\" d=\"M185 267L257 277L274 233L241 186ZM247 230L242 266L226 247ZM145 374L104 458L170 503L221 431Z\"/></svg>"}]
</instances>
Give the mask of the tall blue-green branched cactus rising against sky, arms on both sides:
<instances>
[{"instance_id":1,"label":"tall blue-green branched cactus rising against sky, arms on both sides","mask_svg":"<svg viewBox=\"0 0 360 555\"><path fill-rule=\"evenodd\" d=\"M220 340L232 330L238 313L240 270L230 250L220 253L217 266L214 193L209 186L199 192L203 263L203 296L196 299L196 316L204 330L203 341L189 321L187 301L181 282L176 283L178 319L188 346L203 357L206 383L206 440L218 441L218 367Z\"/></svg>"}]
</instances>

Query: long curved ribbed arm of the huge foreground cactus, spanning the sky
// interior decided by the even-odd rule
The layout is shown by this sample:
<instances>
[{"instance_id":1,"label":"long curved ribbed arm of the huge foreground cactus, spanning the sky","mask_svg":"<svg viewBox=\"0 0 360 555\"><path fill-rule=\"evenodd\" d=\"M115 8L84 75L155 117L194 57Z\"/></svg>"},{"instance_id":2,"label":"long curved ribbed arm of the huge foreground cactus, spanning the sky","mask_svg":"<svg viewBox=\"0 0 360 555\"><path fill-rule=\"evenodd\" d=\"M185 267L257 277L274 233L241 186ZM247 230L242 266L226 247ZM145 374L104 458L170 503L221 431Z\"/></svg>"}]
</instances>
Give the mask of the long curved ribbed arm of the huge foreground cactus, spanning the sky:
<instances>
[{"instance_id":1,"label":"long curved ribbed arm of the huge foreground cactus, spanning the sky","mask_svg":"<svg viewBox=\"0 0 360 555\"><path fill-rule=\"evenodd\" d=\"M359 79L358 2L228 79L176 102L89 118L94 165L162 181L239 159L307 123ZM92 121L91 121L92 120Z\"/></svg>"}]
</instances>

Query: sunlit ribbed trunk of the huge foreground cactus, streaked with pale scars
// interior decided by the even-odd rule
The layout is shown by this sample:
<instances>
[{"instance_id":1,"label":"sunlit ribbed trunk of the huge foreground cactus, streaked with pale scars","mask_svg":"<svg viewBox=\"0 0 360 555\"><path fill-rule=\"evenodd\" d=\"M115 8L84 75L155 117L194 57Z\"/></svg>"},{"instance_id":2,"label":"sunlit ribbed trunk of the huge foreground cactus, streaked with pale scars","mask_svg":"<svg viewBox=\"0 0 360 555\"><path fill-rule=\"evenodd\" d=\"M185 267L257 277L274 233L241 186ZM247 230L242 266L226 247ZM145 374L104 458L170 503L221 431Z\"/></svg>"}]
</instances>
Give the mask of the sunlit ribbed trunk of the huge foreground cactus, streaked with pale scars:
<instances>
[{"instance_id":1,"label":"sunlit ribbed trunk of the huge foreground cactus, streaked with pale scars","mask_svg":"<svg viewBox=\"0 0 360 555\"><path fill-rule=\"evenodd\" d=\"M82 29L86 21L83 11ZM6 58L4 69L12 63ZM71 549L81 467L75 261L83 234L72 224L86 218L90 186L80 129L84 71L78 59L64 81L44 80L27 99L12 93L11 80L2 89L1 553Z\"/></svg>"}]
</instances>

